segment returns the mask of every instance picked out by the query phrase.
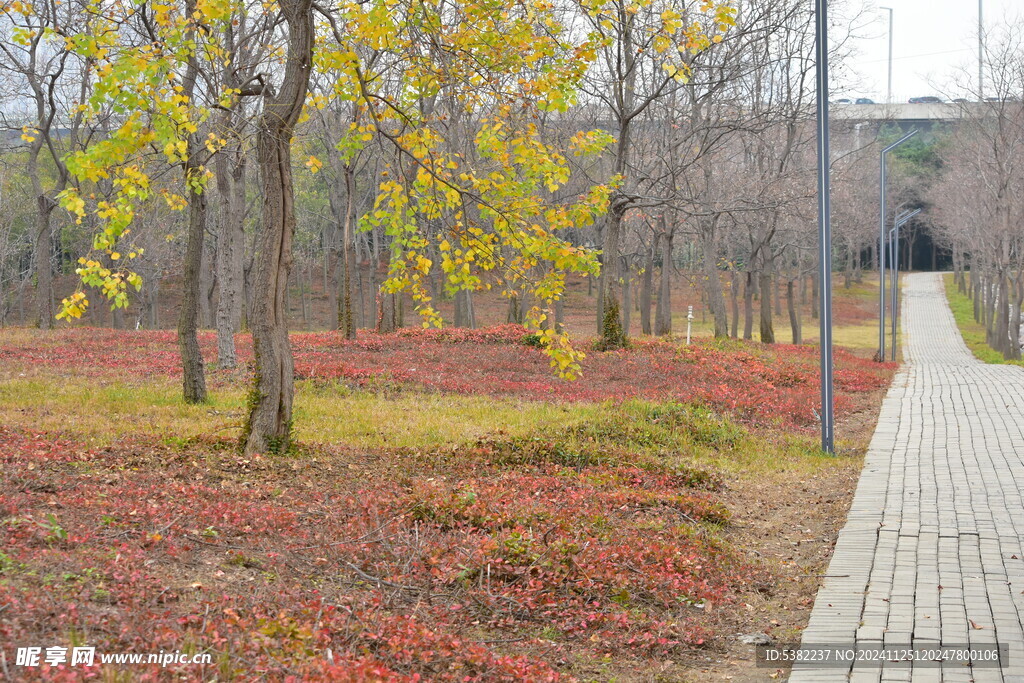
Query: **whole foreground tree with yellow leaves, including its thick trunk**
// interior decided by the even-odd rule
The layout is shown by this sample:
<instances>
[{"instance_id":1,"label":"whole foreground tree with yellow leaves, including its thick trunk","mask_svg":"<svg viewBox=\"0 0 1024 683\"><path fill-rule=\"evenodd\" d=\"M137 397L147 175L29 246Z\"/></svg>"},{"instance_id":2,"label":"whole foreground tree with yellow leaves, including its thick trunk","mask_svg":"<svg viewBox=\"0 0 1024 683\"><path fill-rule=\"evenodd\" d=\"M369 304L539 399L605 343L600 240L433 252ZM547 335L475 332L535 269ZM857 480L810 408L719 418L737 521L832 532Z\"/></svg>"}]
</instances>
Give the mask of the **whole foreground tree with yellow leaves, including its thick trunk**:
<instances>
[{"instance_id":1,"label":"whole foreground tree with yellow leaves, including its thick trunk","mask_svg":"<svg viewBox=\"0 0 1024 683\"><path fill-rule=\"evenodd\" d=\"M68 44L96 65L86 114L112 108L118 125L68 160L78 184L61 194L63 206L99 224L93 253L78 271L83 284L98 286L116 306L127 303L129 287L141 286L130 259L120 256L130 253L122 245L130 240L136 208L156 191L158 159L181 170L181 191L162 191L169 204L189 211L189 264L199 263L197 226L211 159L226 144L209 130L211 116L242 99L254 102L262 206L249 311L255 381L243 445L250 453L287 449L294 393L285 316L293 174L323 167L315 156L293 164L292 154L311 110L346 102L361 116L332 154L344 159L373 146L392 160L373 209L358 218L360 228L377 226L390 238L385 291L410 293L425 326L441 324L425 285L435 268L451 291L528 293L527 325L538 331L554 371L575 376L582 353L551 317L566 274L596 274L599 263L596 252L563 233L611 208L604 224L604 291L611 301L616 221L630 202L629 123L645 101L684 81L685 54L710 45L731 20L727 3L711 1L580 9L590 17L583 31L564 8L544 0L375 0L330 8L312 0L89 5L93 30L69 36ZM247 67L245 80L214 78L232 69L233 48L223 37L243 20L262 29L253 35L269 46L266 59ZM129 25L135 30L124 31ZM609 72L618 57L624 61ZM640 60L657 70L650 92L638 92L640 68L629 66ZM564 115L579 102L584 80L598 72L615 83L618 129L562 131L555 141L543 135L541 116L555 126L568 121ZM455 117L463 121L457 129L450 125ZM455 130L471 131L471 143L453 139ZM607 150L616 162L606 181L569 191L571 157ZM83 187L99 180L114 191L92 201ZM79 291L66 299L61 315L80 315L86 305ZM183 357L195 339L195 325L190 338L186 327L180 326Z\"/></svg>"}]
</instances>

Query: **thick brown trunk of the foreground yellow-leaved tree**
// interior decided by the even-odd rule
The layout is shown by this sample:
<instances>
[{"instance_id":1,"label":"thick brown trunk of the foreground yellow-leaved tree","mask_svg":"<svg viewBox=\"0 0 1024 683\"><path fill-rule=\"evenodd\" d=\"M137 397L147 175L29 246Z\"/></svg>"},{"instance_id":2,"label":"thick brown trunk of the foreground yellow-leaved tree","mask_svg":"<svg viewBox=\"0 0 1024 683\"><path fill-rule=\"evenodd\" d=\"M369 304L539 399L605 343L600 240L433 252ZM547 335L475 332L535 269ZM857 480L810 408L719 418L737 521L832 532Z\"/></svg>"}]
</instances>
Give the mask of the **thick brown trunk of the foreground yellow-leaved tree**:
<instances>
[{"instance_id":1,"label":"thick brown trunk of the foreground yellow-leaved tree","mask_svg":"<svg viewBox=\"0 0 1024 683\"><path fill-rule=\"evenodd\" d=\"M309 87L314 34L311 0L279 0L279 5L289 32L288 56L280 91L265 98L256 142L263 224L250 321L256 385L243 430L247 454L287 451L292 436L295 369L285 309L295 231L291 140Z\"/></svg>"}]
</instances>

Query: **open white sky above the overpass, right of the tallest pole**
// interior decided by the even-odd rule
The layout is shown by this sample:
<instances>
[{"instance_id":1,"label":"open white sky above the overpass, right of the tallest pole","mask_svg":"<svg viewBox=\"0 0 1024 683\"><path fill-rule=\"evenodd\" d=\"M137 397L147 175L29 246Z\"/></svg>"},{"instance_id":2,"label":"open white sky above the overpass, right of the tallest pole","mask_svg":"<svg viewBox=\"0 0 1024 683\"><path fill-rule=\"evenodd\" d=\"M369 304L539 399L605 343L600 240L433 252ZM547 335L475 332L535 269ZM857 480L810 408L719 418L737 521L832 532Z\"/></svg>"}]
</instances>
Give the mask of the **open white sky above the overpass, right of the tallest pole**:
<instances>
[{"instance_id":1,"label":"open white sky above the overpass, right of the tallest pole","mask_svg":"<svg viewBox=\"0 0 1024 683\"><path fill-rule=\"evenodd\" d=\"M1024 23L1024 0L983 0L986 31ZM851 47L854 82L833 96L886 99L889 12L893 9L893 99L958 97L956 82L978 80L978 0L869 0L866 27ZM871 20L873 18L873 20ZM839 84L837 84L839 85Z\"/></svg>"}]
</instances>

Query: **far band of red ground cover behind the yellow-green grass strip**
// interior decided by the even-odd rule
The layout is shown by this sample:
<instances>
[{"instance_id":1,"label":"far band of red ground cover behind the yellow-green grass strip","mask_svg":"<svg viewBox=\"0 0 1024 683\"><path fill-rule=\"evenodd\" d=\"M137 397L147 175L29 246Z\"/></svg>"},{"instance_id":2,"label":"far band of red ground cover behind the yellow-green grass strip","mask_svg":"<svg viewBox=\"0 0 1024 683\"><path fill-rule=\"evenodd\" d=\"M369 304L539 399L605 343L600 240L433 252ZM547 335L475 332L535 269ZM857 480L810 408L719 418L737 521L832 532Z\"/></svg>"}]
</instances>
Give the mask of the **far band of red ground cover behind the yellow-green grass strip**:
<instances>
[{"instance_id":1,"label":"far band of red ground cover behind the yellow-green grass strip","mask_svg":"<svg viewBox=\"0 0 1024 683\"><path fill-rule=\"evenodd\" d=\"M555 377L543 352L524 343L526 331L505 325L484 330L407 329L393 335L360 332L347 341L334 332L292 335L296 375L319 382L360 385L388 382L431 391L536 400L602 401L628 398L703 402L753 425L812 429L819 401L817 349L698 340L691 346L637 340L630 349L591 351L584 376ZM240 357L251 357L239 336ZM214 336L201 335L207 359ZM0 361L60 368L86 375L123 377L180 374L172 332L62 330L28 344L0 347ZM836 351L836 410L842 417L863 408L884 387L892 365ZM236 373L211 372L211 382L238 382Z\"/></svg>"}]
</instances>

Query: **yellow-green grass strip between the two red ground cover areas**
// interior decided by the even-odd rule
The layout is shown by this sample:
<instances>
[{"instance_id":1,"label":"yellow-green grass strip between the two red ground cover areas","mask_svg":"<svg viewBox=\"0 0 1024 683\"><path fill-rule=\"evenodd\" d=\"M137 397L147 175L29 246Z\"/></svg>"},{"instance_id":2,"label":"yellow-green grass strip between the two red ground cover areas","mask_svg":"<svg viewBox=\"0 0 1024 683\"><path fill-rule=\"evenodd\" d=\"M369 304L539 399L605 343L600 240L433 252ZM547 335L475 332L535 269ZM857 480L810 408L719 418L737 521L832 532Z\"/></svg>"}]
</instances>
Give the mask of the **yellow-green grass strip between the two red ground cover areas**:
<instances>
[{"instance_id":1,"label":"yellow-green grass strip between the two red ground cover areas","mask_svg":"<svg viewBox=\"0 0 1024 683\"><path fill-rule=\"evenodd\" d=\"M0 383L3 424L99 446L148 435L178 449L219 450L238 438L244 413L242 387L219 388L208 402L190 405L169 379L67 382L42 372ZM299 443L312 451L317 443L424 451L486 443L506 464L635 464L742 476L780 467L813 471L829 462L813 435L752 432L727 415L679 402L557 403L299 382L295 425Z\"/></svg>"}]
</instances>

